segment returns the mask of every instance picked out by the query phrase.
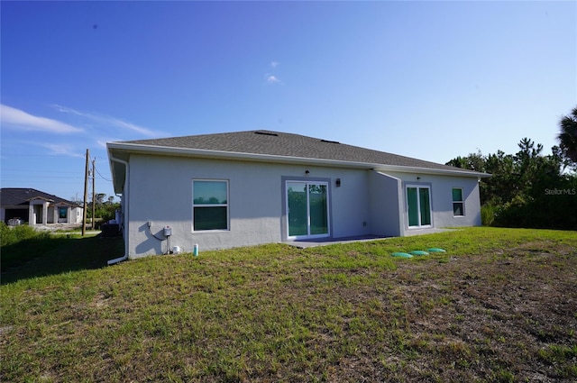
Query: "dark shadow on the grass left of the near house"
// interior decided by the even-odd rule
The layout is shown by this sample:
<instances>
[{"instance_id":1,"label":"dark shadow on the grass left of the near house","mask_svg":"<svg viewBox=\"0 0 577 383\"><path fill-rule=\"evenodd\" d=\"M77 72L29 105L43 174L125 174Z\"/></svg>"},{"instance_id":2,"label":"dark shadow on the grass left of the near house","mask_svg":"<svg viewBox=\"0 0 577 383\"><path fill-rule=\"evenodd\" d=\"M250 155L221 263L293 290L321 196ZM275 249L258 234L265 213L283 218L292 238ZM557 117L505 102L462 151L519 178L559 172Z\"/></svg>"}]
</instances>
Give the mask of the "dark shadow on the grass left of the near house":
<instances>
[{"instance_id":1,"label":"dark shadow on the grass left of the near house","mask_svg":"<svg viewBox=\"0 0 577 383\"><path fill-rule=\"evenodd\" d=\"M20 279L44 277L82 269L100 269L124 253L122 237L101 235L53 236L2 247L5 285Z\"/></svg>"}]
</instances>

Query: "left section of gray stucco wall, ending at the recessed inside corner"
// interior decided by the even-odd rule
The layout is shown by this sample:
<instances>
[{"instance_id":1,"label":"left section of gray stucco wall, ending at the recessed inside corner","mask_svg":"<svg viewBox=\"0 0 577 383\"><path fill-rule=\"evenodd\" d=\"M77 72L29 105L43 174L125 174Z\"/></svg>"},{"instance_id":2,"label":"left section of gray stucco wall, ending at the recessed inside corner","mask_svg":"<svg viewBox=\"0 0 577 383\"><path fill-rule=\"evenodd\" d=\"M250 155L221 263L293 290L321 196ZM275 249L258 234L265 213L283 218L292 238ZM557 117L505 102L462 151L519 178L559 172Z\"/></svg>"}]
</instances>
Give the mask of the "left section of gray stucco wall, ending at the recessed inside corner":
<instances>
[{"instance_id":1,"label":"left section of gray stucco wall, ending at the recessed inside corner","mask_svg":"<svg viewBox=\"0 0 577 383\"><path fill-rule=\"evenodd\" d=\"M329 181L332 237L371 233L367 170L132 155L129 177L130 258L165 253L167 241L152 234L163 239L167 225L170 246L183 251L195 244L204 251L283 241L283 178ZM230 230L192 232L192 180L198 178L228 180Z\"/></svg>"}]
</instances>

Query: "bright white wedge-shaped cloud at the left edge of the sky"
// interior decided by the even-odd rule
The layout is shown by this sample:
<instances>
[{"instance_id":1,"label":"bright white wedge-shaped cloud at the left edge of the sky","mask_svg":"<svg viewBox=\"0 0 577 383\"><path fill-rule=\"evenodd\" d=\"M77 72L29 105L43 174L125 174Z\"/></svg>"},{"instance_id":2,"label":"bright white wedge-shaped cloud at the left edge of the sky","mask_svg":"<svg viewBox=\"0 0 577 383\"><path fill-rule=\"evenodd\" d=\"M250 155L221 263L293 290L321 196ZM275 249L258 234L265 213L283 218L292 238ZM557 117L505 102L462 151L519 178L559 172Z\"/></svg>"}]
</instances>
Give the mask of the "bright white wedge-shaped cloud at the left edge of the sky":
<instances>
[{"instance_id":1,"label":"bright white wedge-shaped cloud at the left edge of the sky","mask_svg":"<svg viewBox=\"0 0 577 383\"><path fill-rule=\"evenodd\" d=\"M4 104L0 104L0 122L2 126L17 126L27 131L59 134L83 132L82 129L69 125L68 123L61 123L51 118L28 114L20 109Z\"/></svg>"}]
</instances>

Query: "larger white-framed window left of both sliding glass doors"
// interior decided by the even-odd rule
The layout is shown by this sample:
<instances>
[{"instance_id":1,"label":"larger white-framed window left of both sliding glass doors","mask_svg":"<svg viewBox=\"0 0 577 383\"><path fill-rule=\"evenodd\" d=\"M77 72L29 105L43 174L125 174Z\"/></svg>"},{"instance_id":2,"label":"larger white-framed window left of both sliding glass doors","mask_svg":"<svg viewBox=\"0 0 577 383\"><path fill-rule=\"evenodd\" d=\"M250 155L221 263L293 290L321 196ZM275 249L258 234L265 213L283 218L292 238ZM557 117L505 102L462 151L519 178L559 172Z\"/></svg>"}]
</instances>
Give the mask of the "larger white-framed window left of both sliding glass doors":
<instances>
[{"instance_id":1,"label":"larger white-framed window left of both sliding glass doors","mask_svg":"<svg viewBox=\"0 0 577 383\"><path fill-rule=\"evenodd\" d=\"M192 181L192 230L228 230L228 181Z\"/></svg>"}]
</instances>

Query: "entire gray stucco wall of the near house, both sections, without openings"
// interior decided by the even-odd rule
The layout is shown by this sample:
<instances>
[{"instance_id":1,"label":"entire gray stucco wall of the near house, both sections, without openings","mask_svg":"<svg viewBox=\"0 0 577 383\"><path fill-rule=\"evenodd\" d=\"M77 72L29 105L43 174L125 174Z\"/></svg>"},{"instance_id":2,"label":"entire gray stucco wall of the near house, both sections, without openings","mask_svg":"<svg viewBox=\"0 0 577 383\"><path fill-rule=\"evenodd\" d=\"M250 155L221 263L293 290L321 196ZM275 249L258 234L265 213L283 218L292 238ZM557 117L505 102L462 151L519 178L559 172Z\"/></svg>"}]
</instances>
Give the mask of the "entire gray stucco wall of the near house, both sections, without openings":
<instances>
[{"instance_id":1,"label":"entire gray stucco wall of the near house, both sections, without openings","mask_svg":"<svg viewBox=\"0 0 577 383\"><path fill-rule=\"evenodd\" d=\"M166 253L166 226L172 229L170 248L179 246L187 252L195 244L202 252L286 241L287 180L328 183L333 238L405 235L409 230L408 184L431 187L434 227L481 224L476 178L135 154L130 157L129 178L129 185L124 187L123 214L130 258ZM340 187L336 187L337 178ZM193 232L193 179L228 181L229 230ZM463 217L453 217L453 187L463 188Z\"/></svg>"}]
</instances>

